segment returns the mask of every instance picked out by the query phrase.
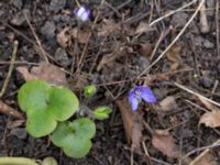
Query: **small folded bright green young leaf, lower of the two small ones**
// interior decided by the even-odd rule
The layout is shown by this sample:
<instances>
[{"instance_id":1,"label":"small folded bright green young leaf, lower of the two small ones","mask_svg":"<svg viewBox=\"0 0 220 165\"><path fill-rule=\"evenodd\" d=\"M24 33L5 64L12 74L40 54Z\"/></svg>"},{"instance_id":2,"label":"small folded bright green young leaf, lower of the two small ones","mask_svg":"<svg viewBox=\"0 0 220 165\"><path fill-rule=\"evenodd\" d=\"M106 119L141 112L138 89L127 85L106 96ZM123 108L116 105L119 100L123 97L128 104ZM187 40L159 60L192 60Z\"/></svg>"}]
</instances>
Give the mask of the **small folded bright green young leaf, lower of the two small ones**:
<instances>
[{"instance_id":1,"label":"small folded bright green young leaf, lower of the two small ones","mask_svg":"<svg viewBox=\"0 0 220 165\"><path fill-rule=\"evenodd\" d=\"M95 109L94 111L94 118L98 120L105 120L109 118L109 114L111 113L111 109L107 106L99 107Z\"/></svg>"}]
</instances>

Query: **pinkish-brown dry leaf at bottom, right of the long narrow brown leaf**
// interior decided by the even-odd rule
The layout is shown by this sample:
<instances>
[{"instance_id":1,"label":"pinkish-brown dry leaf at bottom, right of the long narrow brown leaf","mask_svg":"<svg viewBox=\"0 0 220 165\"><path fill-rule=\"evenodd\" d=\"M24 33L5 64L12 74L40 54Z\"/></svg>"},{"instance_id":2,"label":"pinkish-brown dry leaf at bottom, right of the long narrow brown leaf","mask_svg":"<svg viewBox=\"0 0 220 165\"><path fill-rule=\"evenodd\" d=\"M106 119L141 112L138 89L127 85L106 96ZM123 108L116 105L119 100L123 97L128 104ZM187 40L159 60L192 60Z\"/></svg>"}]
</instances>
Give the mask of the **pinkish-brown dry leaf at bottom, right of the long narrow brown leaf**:
<instances>
[{"instance_id":1,"label":"pinkish-brown dry leaf at bottom, right of the long narrow brown leaf","mask_svg":"<svg viewBox=\"0 0 220 165\"><path fill-rule=\"evenodd\" d=\"M180 155L174 138L166 131L155 131L152 138L152 144L168 157L177 158Z\"/></svg>"}]
</instances>

